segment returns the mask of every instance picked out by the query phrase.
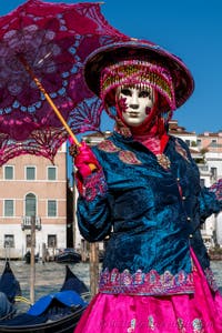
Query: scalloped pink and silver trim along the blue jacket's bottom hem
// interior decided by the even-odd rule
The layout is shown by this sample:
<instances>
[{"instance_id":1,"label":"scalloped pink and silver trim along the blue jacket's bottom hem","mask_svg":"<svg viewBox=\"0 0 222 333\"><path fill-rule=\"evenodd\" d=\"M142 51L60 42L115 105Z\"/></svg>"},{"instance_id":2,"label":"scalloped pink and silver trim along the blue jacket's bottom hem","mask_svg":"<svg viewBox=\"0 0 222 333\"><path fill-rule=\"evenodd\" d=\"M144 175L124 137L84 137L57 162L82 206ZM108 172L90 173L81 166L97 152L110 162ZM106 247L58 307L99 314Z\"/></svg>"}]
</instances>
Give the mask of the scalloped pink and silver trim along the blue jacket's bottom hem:
<instances>
[{"instance_id":1,"label":"scalloped pink and silver trim along the blue jacket's bottom hem","mask_svg":"<svg viewBox=\"0 0 222 333\"><path fill-rule=\"evenodd\" d=\"M131 274L129 270L119 272L105 269L100 275L99 290L101 293L130 294L130 295L170 295L193 293L193 274L180 271L173 275L169 271L159 274L152 270L143 273L138 270Z\"/></svg>"}]
</instances>

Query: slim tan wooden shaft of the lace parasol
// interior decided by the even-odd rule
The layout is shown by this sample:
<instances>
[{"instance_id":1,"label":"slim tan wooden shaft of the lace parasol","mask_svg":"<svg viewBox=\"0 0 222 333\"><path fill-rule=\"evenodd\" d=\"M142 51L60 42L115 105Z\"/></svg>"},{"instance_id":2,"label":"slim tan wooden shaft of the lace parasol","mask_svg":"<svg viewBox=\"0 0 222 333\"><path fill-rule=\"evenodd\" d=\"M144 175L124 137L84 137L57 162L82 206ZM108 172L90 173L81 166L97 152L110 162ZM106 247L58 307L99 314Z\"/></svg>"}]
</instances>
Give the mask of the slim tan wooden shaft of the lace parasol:
<instances>
[{"instance_id":1,"label":"slim tan wooden shaft of the lace parasol","mask_svg":"<svg viewBox=\"0 0 222 333\"><path fill-rule=\"evenodd\" d=\"M72 130L70 129L70 127L68 125L67 121L64 120L64 118L60 113L59 109L57 108L57 105L54 104L54 102L52 101L52 99L50 98L49 93L46 91L46 89L43 88L43 85L41 84L41 82L39 81L39 79L34 75L32 69L30 68L29 63L24 59L23 54L18 54L18 58L21 61L21 63L23 64L23 67L27 70L27 72L30 74L30 77L34 81L34 83L37 84L37 87L39 88L39 90L46 97L47 101L49 102L49 104L51 105L52 110L54 111L54 113L57 114L57 117L59 118L59 120L61 121L61 123L63 124L63 127L67 130L67 132L69 133L69 135L72 138L73 142L78 147L80 147L81 143L78 141L77 137L73 134ZM89 167L90 167L90 169L92 171L97 169L97 167L94 164L89 164Z\"/></svg>"}]
</instances>

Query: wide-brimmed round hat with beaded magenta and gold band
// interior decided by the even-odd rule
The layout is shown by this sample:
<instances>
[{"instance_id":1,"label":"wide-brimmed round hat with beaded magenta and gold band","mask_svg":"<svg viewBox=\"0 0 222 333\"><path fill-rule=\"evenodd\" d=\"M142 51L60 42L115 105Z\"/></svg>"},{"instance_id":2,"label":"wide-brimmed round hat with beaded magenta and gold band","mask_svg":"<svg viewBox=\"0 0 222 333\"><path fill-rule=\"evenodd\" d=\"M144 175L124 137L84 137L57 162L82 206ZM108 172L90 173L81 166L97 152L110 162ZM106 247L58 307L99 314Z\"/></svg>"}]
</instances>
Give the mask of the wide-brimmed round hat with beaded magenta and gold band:
<instances>
[{"instance_id":1,"label":"wide-brimmed round hat with beaded magenta and gold band","mask_svg":"<svg viewBox=\"0 0 222 333\"><path fill-rule=\"evenodd\" d=\"M193 78L180 58L138 39L93 51L85 61L84 78L108 107L114 105L115 88L124 84L154 88L162 99L161 111L181 107L194 89Z\"/></svg>"}]
</instances>

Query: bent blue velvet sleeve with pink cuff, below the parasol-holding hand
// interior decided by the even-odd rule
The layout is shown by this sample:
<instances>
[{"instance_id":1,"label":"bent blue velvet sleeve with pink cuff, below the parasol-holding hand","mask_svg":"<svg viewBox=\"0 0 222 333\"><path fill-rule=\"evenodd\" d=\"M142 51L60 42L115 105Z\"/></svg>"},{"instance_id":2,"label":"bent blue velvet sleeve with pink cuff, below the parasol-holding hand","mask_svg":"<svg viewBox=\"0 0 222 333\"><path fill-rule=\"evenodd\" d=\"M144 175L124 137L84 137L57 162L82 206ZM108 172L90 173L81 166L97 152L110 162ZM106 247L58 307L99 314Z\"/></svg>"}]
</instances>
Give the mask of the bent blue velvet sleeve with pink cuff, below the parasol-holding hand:
<instances>
[{"instance_id":1,"label":"bent blue velvet sleeve with pink cuff, below the parasol-holding hand","mask_svg":"<svg viewBox=\"0 0 222 333\"><path fill-rule=\"evenodd\" d=\"M77 184L78 184L77 179ZM111 208L102 169L78 184L77 218L80 233L89 242L103 240L111 231Z\"/></svg>"}]
</instances>

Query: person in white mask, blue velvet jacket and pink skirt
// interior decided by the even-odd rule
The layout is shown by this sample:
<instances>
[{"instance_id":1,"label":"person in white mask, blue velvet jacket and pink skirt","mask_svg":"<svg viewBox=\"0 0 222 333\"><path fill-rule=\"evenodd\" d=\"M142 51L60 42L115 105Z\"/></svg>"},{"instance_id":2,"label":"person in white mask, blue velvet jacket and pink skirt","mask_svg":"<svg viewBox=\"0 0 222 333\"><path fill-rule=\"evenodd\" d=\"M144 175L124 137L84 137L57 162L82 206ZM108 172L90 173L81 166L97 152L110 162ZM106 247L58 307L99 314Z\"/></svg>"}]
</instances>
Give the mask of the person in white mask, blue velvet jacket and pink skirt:
<instances>
[{"instance_id":1,"label":"person in white mask, blue velvet jacket and pink skirt","mask_svg":"<svg viewBox=\"0 0 222 333\"><path fill-rule=\"evenodd\" d=\"M200 231L222 209L221 182L201 188L188 145L168 132L193 92L190 71L160 47L131 40L94 51L84 74L115 128L97 147L70 148L80 232L89 242L109 236L99 292L74 332L222 332L222 296Z\"/></svg>"}]
</instances>

